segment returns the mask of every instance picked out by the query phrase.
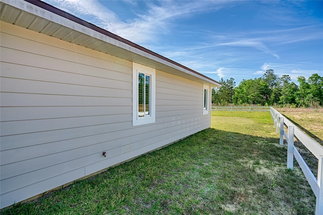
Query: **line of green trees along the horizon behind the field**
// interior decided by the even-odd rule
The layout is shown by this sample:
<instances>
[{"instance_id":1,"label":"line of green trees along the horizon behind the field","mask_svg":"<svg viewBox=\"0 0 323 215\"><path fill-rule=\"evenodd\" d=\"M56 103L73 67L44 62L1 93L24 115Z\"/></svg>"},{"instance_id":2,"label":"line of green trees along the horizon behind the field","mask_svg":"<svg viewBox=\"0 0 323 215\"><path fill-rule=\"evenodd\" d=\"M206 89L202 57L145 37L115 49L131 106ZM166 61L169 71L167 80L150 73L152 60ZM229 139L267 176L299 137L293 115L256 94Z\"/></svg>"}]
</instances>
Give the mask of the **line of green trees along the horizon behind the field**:
<instances>
[{"instance_id":1,"label":"line of green trees along the horizon behind the field","mask_svg":"<svg viewBox=\"0 0 323 215\"><path fill-rule=\"evenodd\" d=\"M226 105L279 105L291 108L323 106L323 77L317 73L308 79L297 77L299 85L289 75L278 76L273 69L260 78L243 79L238 86L234 78L221 78L222 87L212 89L212 103Z\"/></svg>"}]
</instances>

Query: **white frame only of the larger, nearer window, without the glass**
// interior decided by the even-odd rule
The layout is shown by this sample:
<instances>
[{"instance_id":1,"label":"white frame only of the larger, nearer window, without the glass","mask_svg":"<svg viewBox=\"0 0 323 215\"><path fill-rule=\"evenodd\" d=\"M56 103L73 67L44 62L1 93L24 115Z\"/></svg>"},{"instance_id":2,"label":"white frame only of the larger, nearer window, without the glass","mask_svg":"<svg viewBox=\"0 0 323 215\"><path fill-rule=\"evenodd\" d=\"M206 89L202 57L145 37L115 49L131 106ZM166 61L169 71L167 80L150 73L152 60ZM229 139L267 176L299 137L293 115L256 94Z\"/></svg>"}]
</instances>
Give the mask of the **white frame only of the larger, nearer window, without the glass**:
<instances>
[{"instance_id":1,"label":"white frame only of the larger, nearer window, without the glass","mask_svg":"<svg viewBox=\"0 0 323 215\"><path fill-rule=\"evenodd\" d=\"M143 73L150 76L150 114L144 117L139 117L138 108L138 75ZM156 70L141 64L132 63L132 126L145 125L155 123L156 110Z\"/></svg>"}]
</instances>

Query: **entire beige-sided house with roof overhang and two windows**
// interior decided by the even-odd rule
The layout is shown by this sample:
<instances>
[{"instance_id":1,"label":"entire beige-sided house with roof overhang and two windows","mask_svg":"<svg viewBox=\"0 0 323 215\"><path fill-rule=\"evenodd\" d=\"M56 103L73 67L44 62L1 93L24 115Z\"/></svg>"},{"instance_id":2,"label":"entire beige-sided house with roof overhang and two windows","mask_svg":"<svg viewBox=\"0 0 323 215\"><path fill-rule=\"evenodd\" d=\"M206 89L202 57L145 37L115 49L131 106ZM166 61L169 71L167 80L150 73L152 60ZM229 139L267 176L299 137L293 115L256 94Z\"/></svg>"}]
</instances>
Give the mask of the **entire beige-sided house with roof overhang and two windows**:
<instances>
[{"instance_id":1,"label":"entire beige-sided house with roof overhang and two windows","mask_svg":"<svg viewBox=\"0 0 323 215\"><path fill-rule=\"evenodd\" d=\"M210 127L219 82L44 2L0 4L1 208Z\"/></svg>"}]
</instances>

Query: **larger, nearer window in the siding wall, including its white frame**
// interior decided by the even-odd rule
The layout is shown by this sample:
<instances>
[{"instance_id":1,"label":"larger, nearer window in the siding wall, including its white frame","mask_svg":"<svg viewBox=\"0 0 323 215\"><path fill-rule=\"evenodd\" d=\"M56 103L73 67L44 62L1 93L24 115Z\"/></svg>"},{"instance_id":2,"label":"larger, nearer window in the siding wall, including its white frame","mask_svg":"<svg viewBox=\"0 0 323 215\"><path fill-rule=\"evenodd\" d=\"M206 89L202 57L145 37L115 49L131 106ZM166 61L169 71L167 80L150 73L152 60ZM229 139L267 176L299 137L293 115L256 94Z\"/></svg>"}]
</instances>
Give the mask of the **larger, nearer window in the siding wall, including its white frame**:
<instances>
[{"instance_id":1,"label":"larger, nearer window in the siding wall, including its white frame","mask_svg":"<svg viewBox=\"0 0 323 215\"><path fill-rule=\"evenodd\" d=\"M132 125L155 122L155 69L132 63Z\"/></svg>"}]
</instances>

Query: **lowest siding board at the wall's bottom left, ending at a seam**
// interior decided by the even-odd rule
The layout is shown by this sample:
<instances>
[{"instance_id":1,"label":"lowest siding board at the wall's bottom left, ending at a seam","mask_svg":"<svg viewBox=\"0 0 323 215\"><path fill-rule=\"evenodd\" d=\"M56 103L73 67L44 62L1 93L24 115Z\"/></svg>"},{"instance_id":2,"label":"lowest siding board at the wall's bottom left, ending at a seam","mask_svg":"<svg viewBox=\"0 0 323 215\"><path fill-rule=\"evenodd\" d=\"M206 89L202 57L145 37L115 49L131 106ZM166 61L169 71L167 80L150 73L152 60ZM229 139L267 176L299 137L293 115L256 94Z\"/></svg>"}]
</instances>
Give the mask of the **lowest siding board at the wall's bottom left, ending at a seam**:
<instances>
[{"instance_id":1,"label":"lowest siding board at the wall's bottom left, ending at a seam","mask_svg":"<svg viewBox=\"0 0 323 215\"><path fill-rule=\"evenodd\" d=\"M63 184L67 184L84 176L84 168L80 168L63 175L58 175L48 180L32 184L22 189L17 189L12 192L3 194L1 195L1 207L3 208L10 206L14 203L25 200L27 198L31 198L35 195L54 189Z\"/></svg>"}]
</instances>

